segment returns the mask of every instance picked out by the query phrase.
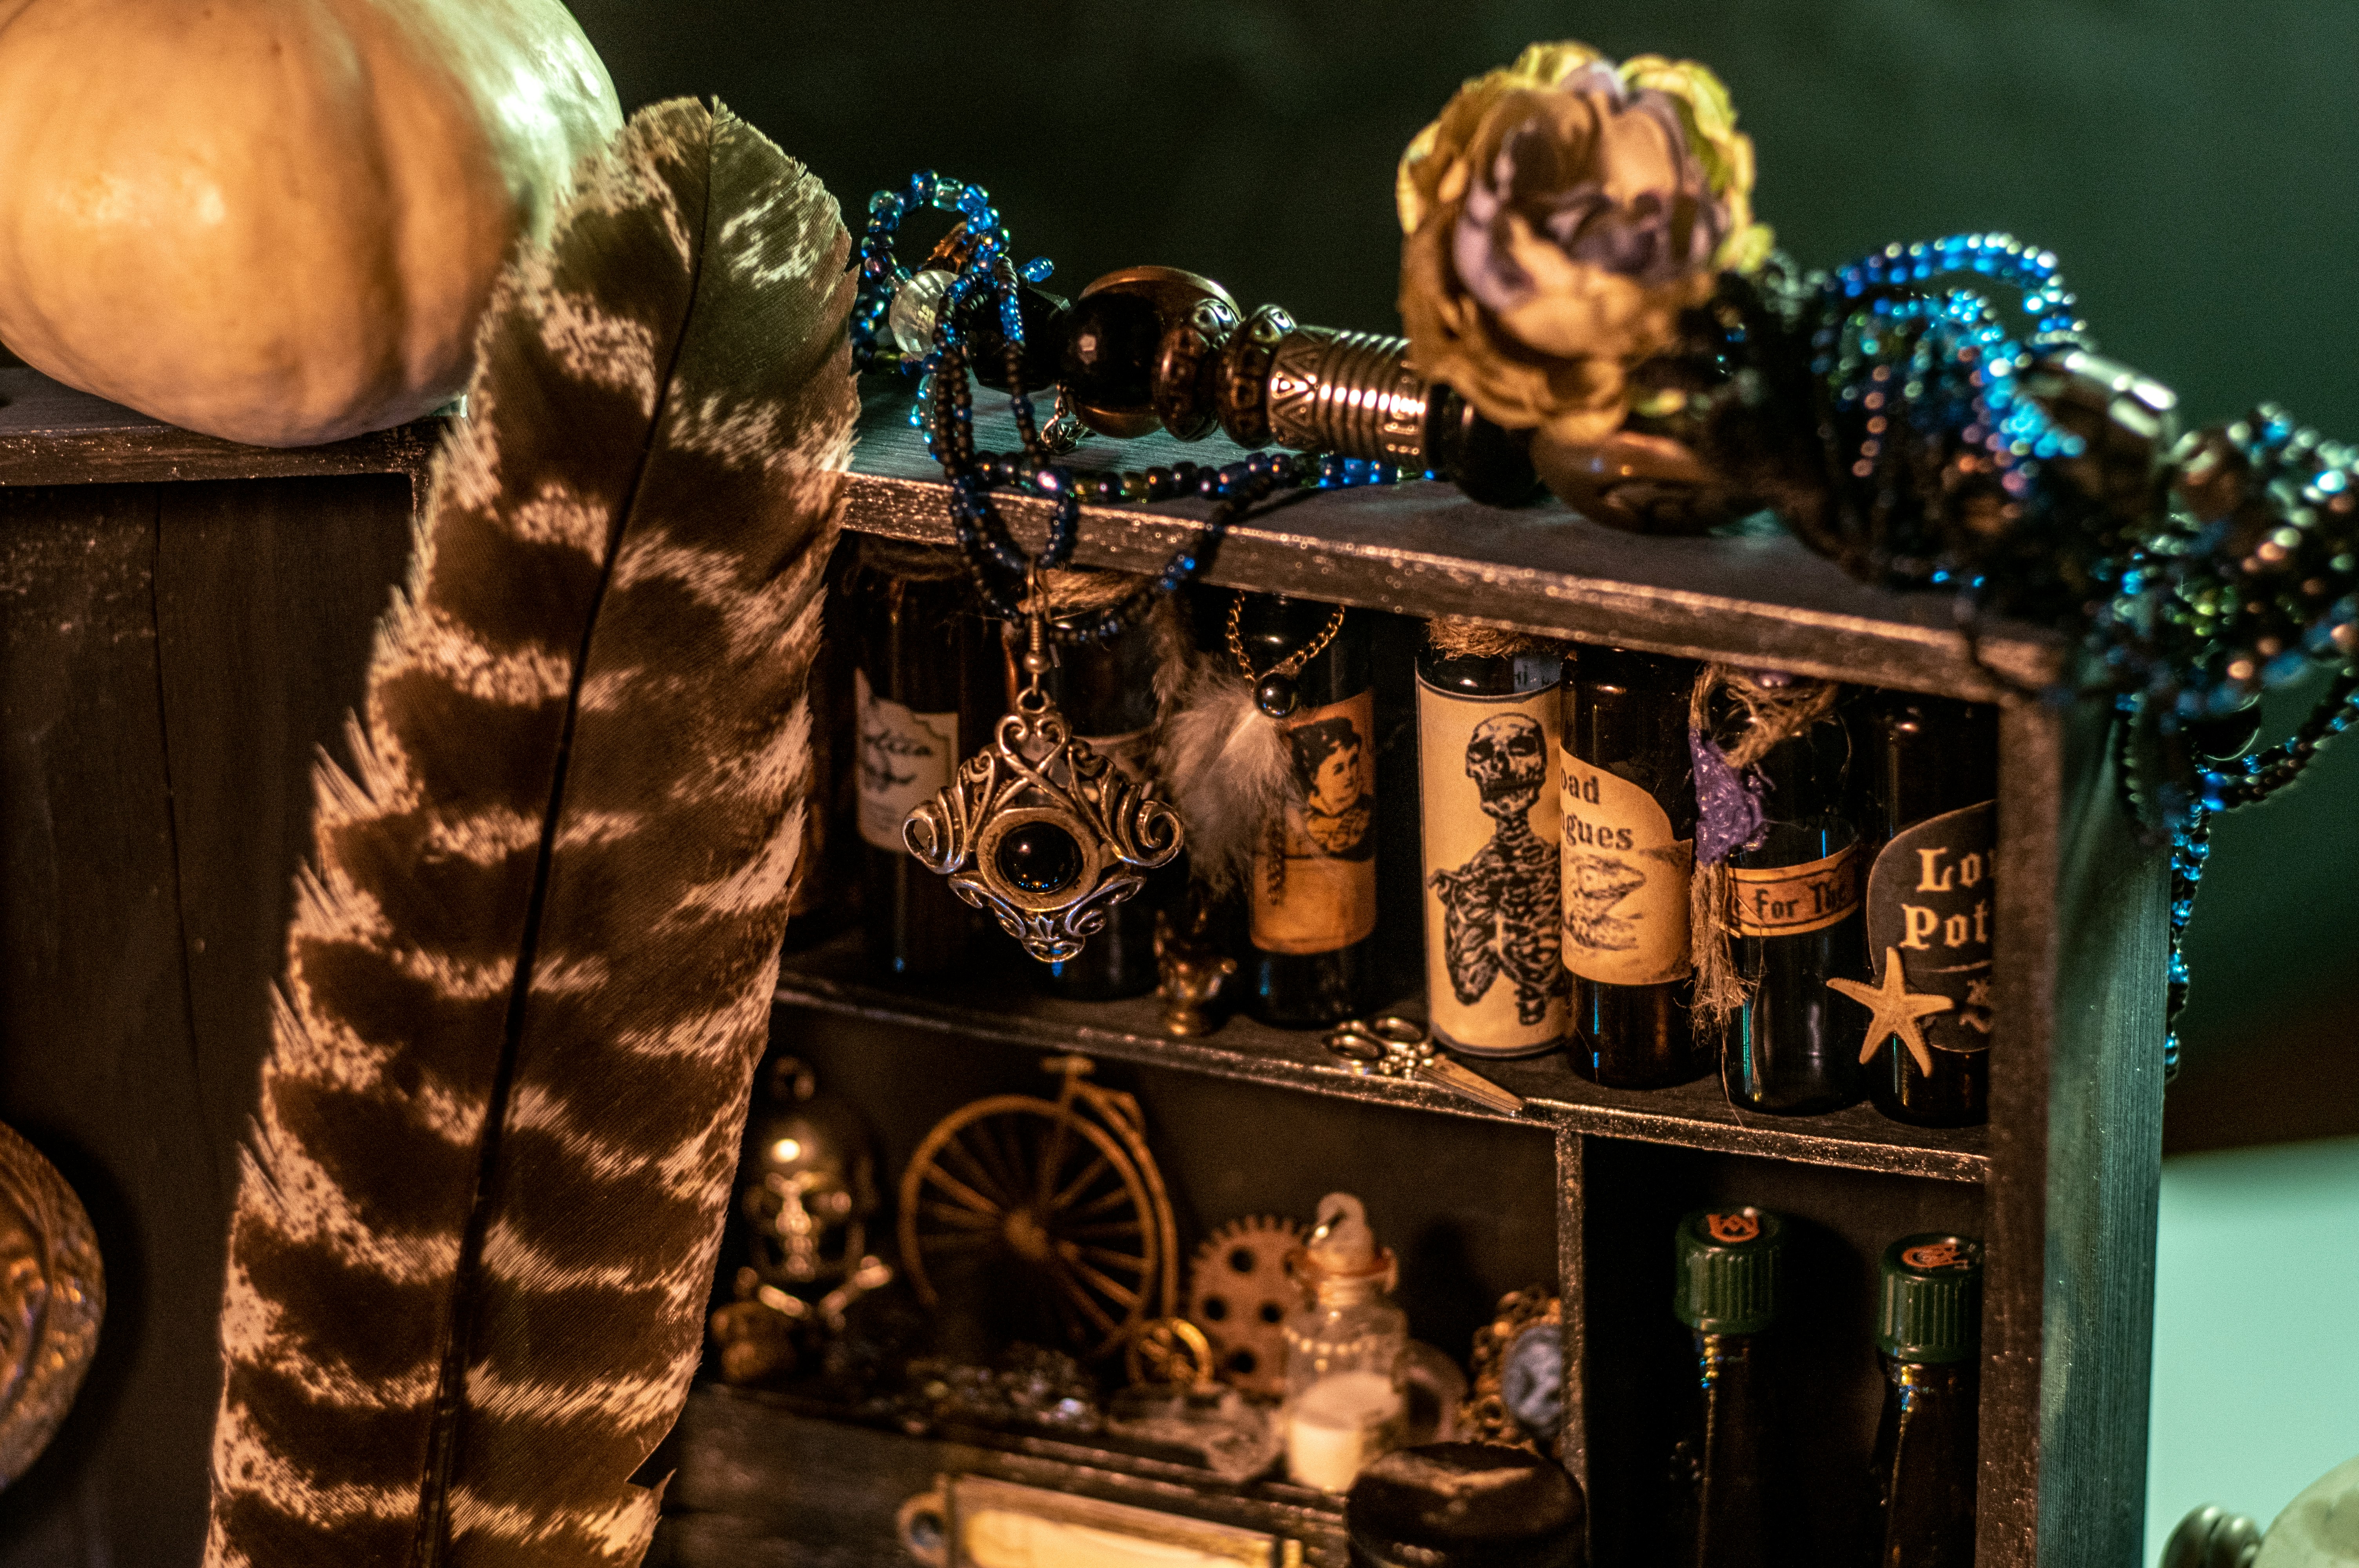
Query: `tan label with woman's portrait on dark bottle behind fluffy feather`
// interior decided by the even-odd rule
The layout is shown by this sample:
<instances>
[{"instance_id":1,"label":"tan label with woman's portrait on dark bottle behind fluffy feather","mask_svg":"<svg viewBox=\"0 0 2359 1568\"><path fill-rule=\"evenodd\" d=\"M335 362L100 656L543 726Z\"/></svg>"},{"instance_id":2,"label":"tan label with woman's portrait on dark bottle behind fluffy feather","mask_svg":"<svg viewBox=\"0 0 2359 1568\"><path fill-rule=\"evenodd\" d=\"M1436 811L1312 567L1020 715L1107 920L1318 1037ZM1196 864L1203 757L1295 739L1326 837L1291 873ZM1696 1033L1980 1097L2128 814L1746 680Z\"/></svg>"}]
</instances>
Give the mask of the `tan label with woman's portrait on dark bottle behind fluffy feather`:
<instances>
[{"instance_id":1,"label":"tan label with woman's portrait on dark bottle behind fluffy feather","mask_svg":"<svg viewBox=\"0 0 2359 1568\"><path fill-rule=\"evenodd\" d=\"M1253 856L1253 946L1335 953L1375 931L1375 696L1283 724L1302 804Z\"/></svg>"}]
</instances>

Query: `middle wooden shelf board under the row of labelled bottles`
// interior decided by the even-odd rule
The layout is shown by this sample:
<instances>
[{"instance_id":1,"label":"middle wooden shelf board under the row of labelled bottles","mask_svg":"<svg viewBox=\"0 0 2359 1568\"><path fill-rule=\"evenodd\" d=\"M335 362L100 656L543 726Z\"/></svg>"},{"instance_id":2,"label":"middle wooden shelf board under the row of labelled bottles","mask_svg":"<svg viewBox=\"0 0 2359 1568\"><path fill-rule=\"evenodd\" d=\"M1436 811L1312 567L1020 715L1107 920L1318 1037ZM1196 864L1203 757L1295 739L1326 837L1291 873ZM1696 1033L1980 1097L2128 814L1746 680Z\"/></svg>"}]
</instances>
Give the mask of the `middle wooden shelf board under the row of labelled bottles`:
<instances>
[{"instance_id":1,"label":"middle wooden shelf board under the row of labelled bottles","mask_svg":"<svg viewBox=\"0 0 2359 1568\"><path fill-rule=\"evenodd\" d=\"M1576 1078L1562 1056L1474 1063L1479 1073L1529 1101L1522 1118L1505 1118L1422 1082L1359 1078L1326 1054L1316 1030L1283 1030L1253 1019L1231 1019L1205 1040L1172 1040L1156 1028L1158 1004L1154 997L1064 1002L1038 995L1017 983L1017 976L1005 974L993 974L981 983L944 981L887 988L863 974L856 936L840 936L807 953L788 953L778 974L778 1002L970 1040L1083 1052L1109 1061L1137 1061L1446 1115L1545 1125L1606 1139L1677 1144L1941 1181L1982 1181L1989 1170L1982 1127L1960 1132L1904 1127L1868 1106L1835 1115L1741 1115L1729 1108L1717 1080L1654 1092L1602 1089Z\"/></svg>"}]
</instances>

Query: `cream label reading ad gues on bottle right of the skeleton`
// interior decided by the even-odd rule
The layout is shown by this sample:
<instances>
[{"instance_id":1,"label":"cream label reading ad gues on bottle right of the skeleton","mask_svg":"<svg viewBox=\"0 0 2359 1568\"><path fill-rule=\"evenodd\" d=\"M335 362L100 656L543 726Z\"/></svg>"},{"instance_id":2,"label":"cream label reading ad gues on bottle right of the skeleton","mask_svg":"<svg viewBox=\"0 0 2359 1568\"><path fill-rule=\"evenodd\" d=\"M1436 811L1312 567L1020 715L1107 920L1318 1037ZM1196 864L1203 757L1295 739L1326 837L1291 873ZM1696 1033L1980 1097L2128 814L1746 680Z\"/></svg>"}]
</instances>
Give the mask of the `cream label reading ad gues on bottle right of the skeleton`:
<instances>
[{"instance_id":1,"label":"cream label reading ad gues on bottle right of the skeleton","mask_svg":"<svg viewBox=\"0 0 2359 1568\"><path fill-rule=\"evenodd\" d=\"M1628 778L1562 752L1564 967L1599 986L1687 979L1696 842Z\"/></svg>"}]
</instances>

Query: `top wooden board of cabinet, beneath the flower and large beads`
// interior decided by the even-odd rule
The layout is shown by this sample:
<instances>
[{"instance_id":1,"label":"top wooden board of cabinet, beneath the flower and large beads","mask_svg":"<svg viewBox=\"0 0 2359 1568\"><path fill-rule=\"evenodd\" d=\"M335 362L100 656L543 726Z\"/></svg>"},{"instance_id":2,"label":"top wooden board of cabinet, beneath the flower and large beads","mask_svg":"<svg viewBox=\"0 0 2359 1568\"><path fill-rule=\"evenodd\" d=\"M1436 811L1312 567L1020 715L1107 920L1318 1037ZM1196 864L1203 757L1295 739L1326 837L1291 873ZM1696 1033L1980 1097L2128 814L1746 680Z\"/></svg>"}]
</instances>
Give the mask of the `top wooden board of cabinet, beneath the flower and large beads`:
<instances>
[{"instance_id":1,"label":"top wooden board of cabinet, beneath the flower and large beads","mask_svg":"<svg viewBox=\"0 0 2359 1568\"><path fill-rule=\"evenodd\" d=\"M908 387L873 384L854 455L845 521L908 540L951 540L941 469L908 427ZM977 443L1014 450L1014 422L977 391ZM1087 441L1076 469L1194 460L1222 465L1238 448L1168 436ZM1038 542L1050 502L1000 495L1019 538ZM1158 571L1196 533L1205 502L1083 507L1085 566ZM1847 578L1783 531L1739 538L1618 533L1557 502L1503 512L1453 486L1404 483L1314 493L1231 528L1205 575L1411 615L1474 615L1583 641L1684 658L1746 658L1802 674L1991 700L2008 681L2048 686L2069 660L2064 639L1989 622L1970 641L1946 594L1892 594ZM1993 677L2003 677L1996 679Z\"/></svg>"}]
</instances>

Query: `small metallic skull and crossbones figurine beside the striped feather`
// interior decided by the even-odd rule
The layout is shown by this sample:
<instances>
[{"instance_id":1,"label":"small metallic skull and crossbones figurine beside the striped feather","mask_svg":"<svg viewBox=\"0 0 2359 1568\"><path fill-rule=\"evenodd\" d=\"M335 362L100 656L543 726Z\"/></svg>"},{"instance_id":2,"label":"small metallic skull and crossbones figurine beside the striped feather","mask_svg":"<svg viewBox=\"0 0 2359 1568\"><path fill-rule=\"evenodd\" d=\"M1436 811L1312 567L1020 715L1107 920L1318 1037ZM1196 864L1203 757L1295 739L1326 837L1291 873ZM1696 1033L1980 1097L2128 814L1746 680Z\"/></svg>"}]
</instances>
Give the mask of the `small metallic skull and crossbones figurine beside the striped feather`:
<instances>
[{"instance_id":1,"label":"small metallic skull and crossbones figurine beside the striped feather","mask_svg":"<svg viewBox=\"0 0 2359 1568\"><path fill-rule=\"evenodd\" d=\"M760 1382L795 1365L802 1330L837 1335L845 1309L892 1280L868 1252L878 1207L875 1151L861 1115L795 1056L767 1073L748 1139L750 1181L738 1207L753 1228L753 1261L736 1273L736 1302L712 1313L722 1377Z\"/></svg>"}]
</instances>

